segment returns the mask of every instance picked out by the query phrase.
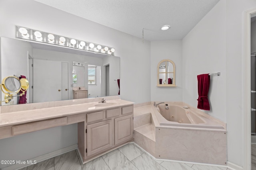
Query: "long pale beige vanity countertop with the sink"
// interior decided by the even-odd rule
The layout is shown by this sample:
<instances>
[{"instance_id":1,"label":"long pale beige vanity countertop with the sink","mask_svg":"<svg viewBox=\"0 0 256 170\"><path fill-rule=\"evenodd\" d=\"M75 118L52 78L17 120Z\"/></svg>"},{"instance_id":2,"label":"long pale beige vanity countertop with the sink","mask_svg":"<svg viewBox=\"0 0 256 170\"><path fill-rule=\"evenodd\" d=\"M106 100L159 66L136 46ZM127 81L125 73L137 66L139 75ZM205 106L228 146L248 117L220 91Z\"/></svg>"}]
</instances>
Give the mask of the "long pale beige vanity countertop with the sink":
<instances>
[{"instance_id":1,"label":"long pale beige vanity countertop with the sink","mask_svg":"<svg viewBox=\"0 0 256 170\"><path fill-rule=\"evenodd\" d=\"M126 100L108 100L107 103L115 103L111 106L95 107L98 102L91 102L85 104L76 104L69 106L50 107L44 109L32 109L27 111L15 111L0 114L0 127L8 125L16 125L20 123L27 123L32 121L40 121L44 119L52 119L67 115L74 115L79 113L88 113L112 107L120 107L134 104Z\"/></svg>"}]
</instances>

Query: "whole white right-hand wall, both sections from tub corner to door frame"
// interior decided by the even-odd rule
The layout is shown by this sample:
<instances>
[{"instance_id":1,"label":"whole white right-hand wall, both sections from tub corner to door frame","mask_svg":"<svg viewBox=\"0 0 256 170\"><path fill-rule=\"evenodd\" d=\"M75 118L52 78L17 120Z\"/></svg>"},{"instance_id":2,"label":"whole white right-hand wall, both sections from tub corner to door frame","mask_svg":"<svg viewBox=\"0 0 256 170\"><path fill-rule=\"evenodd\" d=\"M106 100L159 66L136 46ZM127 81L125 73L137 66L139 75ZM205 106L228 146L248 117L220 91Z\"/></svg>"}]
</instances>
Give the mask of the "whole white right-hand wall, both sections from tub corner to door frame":
<instances>
[{"instance_id":1,"label":"whole white right-hand wall, both sections from tub corner to door frame","mask_svg":"<svg viewBox=\"0 0 256 170\"><path fill-rule=\"evenodd\" d=\"M196 106L196 75L211 77L208 114L226 121L228 162L243 166L243 40L244 11L255 0L220 0L183 39L183 101ZM192 78L194 77L194 79Z\"/></svg>"}]
</instances>

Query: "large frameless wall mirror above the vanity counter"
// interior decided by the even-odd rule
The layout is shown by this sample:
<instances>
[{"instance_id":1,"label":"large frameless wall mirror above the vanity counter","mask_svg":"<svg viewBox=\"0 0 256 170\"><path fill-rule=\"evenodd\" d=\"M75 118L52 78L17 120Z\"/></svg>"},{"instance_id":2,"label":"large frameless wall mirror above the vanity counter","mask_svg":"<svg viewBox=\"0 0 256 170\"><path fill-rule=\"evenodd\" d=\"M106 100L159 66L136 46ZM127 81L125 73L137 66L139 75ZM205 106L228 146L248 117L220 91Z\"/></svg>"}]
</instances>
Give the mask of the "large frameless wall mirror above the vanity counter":
<instances>
[{"instance_id":1,"label":"large frameless wall mirror above the vanity counter","mask_svg":"<svg viewBox=\"0 0 256 170\"><path fill-rule=\"evenodd\" d=\"M1 37L1 80L20 75L29 82L27 103L71 100L74 89L88 90L88 98L114 96L120 57Z\"/></svg>"}]
</instances>

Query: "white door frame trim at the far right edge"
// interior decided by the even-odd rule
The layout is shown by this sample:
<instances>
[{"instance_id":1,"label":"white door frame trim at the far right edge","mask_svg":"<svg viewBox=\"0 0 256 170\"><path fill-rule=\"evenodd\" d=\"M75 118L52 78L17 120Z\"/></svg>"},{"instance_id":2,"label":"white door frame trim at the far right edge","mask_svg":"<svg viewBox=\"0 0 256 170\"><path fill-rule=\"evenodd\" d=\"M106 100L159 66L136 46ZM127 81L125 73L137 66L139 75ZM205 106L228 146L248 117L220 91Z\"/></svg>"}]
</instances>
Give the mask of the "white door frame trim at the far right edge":
<instances>
[{"instance_id":1,"label":"white door frame trim at the far right edge","mask_svg":"<svg viewBox=\"0 0 256 170\"><path fill-rule=\"evenodd\" d=\"M244 169L251 167L251 15L256 8L244 12Z\"/></svg>"}]
</instances>

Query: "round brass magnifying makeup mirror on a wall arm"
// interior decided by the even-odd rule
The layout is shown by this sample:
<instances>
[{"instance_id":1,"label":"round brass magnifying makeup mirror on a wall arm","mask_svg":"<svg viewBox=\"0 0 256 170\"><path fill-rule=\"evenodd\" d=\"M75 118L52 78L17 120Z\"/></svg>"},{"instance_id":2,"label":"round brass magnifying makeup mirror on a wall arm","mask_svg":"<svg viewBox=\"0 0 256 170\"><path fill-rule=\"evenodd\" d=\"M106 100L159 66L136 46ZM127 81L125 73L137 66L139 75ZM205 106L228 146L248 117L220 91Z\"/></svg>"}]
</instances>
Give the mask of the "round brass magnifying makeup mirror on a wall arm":
<instances>
[{"instance_id":1,"label":"round brass magnifying makeup mirror on a wall arm","mask_svg":"<svg viewBox=\"0 0 256 170\"><path fill-rule=\"evenodd\" d=\"M26 78L19 79L15 76L5 77L2 80L2 84L0 85L1 85L0 87L2 92L5 94L4 101L1 101L1 102L5 102L5 103L9 103L10 100L13 99L13 97L16 97L14 95L19 93L20 91L22 93L20 93L20 95L17 95L17 96L24 95L29 87L29 83Z\"/></svg>"}]
</instances>

